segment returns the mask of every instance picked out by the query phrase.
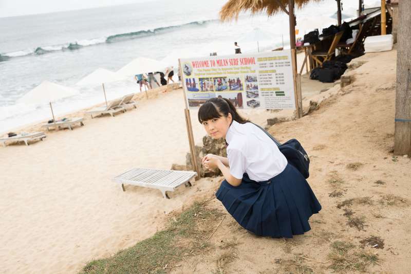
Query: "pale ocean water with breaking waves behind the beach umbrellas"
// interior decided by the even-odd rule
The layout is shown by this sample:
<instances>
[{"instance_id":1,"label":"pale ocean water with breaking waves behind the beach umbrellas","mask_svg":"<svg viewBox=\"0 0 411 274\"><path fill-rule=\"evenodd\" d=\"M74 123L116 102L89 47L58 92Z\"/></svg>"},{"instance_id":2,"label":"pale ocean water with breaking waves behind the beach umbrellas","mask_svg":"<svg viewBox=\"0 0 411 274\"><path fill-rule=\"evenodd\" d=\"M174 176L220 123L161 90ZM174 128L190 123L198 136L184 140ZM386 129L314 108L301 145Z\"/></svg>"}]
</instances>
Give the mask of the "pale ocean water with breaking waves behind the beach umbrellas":
<instances>
[{"instance_id":1,"label":"pale ocean water with breaking waves behind the beach umbrellas","mask_svg":"<svg viewBox=\"0 0 411 274\"><path fill-rule=\"evenodd\" d=\"M176 50L192 52L193 56L214 51L219 55L233 53L234 41L244 40L255 28L269 34L259 41L260 51L289 44L288 16L284 13L272 17L246 13L237 22L221 23L218 12L225 2L186 3L160 0L0 18L0 133L51 117L47 102L36 106L17 102L44 80L80 90L78 96L53 103L55 115L60 116L104 102L101 86L74 85L100 67L116 71L137 57L162 60ZM354 4L345 7L352 15ZM334 1L297 9L297 36L335 24L329 16L336 9ZM239 45L242 52L257 51L256 41ZM127 79L107 84L106 92L110 100L139 92L139 87Z\"/></svg>"}]
</instances>

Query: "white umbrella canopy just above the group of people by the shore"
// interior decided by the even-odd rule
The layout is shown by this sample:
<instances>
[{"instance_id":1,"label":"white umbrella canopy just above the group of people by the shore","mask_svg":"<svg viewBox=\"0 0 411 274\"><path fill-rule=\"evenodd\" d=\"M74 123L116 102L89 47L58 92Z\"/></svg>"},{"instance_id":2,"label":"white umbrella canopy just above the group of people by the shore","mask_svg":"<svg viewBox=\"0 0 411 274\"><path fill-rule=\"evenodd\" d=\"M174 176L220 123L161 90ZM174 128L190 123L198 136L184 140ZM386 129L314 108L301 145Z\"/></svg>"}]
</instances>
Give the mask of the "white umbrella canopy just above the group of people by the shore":
<instances>
[{"instance_id":1,"label":"white umbrella canopy just above the group of people by the shore","mask_svg":"<svg viewBox=\"0 0 411 274\"><path fill-rule=\"evenodd\" d=\"M168 64L157 61L154 59L149 59L145 57L138 57L123 66L117 71L119 76L133 76L136 74L145 74L147 72L154 72L163 70Z\"/></svg>"}]
</instances>

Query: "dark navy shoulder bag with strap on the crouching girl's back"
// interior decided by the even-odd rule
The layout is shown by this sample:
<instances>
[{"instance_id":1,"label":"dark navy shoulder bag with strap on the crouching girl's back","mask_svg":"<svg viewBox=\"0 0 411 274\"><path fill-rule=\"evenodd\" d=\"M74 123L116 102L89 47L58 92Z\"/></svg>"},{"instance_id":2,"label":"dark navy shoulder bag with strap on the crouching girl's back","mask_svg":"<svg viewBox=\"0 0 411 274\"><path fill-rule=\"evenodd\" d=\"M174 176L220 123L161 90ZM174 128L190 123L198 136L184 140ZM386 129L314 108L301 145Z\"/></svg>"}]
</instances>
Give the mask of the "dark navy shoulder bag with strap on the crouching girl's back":
<instances>
[{"instance_id":1,"label":"dark navy shoulder bag with strap on the crouching girl's back","mask_svg":"<svg viewBox=\"0 0 411 274\"><path fill-rule=\"evenodd\" d=\"M257 124L254 125L259 127L260 130L262 130L265 134L267 134L268 137L270 137L271 140L274 141L279 151L281 151L281 153L283 153L283 155L286 157L288 163L298 171L300 171L304 178L307 179L310 176L310 158L308 158L307 152L305 152L300 142L298 142L296 139L291 139L281 144L261 126Z\"/></svg>"}]
</instances>

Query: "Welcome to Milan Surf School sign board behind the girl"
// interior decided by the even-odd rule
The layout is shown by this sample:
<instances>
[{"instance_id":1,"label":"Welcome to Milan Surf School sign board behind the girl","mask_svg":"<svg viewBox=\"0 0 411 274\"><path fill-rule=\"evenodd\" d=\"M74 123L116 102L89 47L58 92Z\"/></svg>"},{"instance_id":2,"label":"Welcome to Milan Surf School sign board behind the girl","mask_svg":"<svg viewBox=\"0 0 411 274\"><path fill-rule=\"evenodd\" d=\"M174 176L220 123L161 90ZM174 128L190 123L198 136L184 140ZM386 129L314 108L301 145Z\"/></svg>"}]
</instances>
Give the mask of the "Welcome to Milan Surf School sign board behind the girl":
<instances>
[{"instance_id":1,"label":"Welcome to Milan Surf School sign board behind the girl","mask_svg":"<svg viewBox=\"0 0 411 274\"><path fill-rule=\"evenodd\" d=\"M295 109L291 50L180 59L190 108L210 98L244 109Z\"/></svg>"}]
</instances>

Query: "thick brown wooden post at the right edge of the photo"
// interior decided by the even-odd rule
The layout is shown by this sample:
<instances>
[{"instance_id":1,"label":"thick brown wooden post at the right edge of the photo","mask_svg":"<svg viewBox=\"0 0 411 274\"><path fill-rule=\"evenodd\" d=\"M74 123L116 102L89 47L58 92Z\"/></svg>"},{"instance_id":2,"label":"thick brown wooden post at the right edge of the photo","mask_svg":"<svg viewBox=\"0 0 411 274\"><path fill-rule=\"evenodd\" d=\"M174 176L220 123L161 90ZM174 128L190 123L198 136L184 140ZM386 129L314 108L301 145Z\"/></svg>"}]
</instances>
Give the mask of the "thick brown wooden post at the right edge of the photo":
<instances>
[{"instance_id":1,"label":"thick brown wooden post at the right edge of the photo","mask_svg":"<svg viewBox=\"0 0 411 274\"><path fill-rule=\"evenodd\" d=\"M411 156L411 1L399 1L394 154Z\"/></svg>"}]
</instances>

